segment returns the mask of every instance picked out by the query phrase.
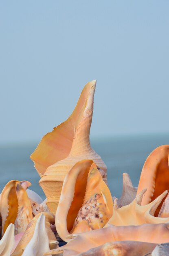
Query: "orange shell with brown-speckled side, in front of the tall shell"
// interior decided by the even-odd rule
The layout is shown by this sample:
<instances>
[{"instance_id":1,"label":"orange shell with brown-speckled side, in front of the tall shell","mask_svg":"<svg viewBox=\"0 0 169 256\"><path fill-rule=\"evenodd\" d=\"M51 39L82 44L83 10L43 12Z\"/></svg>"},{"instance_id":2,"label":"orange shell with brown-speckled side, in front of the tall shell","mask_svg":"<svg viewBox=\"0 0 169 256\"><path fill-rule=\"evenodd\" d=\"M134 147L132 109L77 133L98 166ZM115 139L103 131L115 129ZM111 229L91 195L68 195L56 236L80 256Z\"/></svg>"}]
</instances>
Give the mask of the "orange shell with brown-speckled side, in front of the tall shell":
<instances>
[{"instance_id":1,"label":"orange shell with brown-speckled side, in front of the tall shell","mask_svg":"<svg viewBox=\"0 0 169 256\"><path fill-rule=\"evenodd\" d=\"M70 233L103 227L112 216L112 197L92 160L77 162L64 179L55 225L64 241Z\"/></svg>"}]
</instances>

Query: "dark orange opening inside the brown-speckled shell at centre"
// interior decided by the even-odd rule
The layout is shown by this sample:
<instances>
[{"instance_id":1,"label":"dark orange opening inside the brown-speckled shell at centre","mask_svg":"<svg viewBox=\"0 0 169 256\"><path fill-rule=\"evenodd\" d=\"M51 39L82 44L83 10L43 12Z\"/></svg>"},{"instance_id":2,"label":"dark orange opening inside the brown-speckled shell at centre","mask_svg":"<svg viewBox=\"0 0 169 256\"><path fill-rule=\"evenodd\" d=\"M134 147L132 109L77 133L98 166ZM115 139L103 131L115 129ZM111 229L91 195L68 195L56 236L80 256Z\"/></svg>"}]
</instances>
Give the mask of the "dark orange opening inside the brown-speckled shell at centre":
<instances>
[{"instance_id":1,"label":"dark orange opening inside the brown-speckled shell at centre","mask_svg":"<svg viewBox=\"0 0 169 256\"><path fill-rule=\"evenodd\" d=\"M83 168L77 176L74 190L74 198L72 200L72 204L67 215L67 229L69 233L73 228L73 224L75 222L79 209L83 204L90 166L91 165L88 165L87 168Z\"/></svg>"}]
</instances>

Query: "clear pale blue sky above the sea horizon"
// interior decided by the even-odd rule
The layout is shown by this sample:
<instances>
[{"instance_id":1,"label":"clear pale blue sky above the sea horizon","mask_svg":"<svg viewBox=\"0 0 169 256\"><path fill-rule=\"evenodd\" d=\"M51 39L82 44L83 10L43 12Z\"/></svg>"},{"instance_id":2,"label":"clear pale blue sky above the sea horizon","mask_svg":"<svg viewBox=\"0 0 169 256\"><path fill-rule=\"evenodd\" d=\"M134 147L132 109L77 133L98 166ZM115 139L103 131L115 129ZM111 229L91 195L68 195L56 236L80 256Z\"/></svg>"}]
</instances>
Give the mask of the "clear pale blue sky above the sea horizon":
<instances>
[{"instance_id":1,"label":"clear pale blue sky above the sea horizon","mask_svg":"<svg viewBox=\"0 0 169 256\"><path fill-rule=\"evenodd\" d=\"M169 2L1 1L0 143L39 141L97 79L91 137L169 131Z\"/></svg>"}]
</instances>

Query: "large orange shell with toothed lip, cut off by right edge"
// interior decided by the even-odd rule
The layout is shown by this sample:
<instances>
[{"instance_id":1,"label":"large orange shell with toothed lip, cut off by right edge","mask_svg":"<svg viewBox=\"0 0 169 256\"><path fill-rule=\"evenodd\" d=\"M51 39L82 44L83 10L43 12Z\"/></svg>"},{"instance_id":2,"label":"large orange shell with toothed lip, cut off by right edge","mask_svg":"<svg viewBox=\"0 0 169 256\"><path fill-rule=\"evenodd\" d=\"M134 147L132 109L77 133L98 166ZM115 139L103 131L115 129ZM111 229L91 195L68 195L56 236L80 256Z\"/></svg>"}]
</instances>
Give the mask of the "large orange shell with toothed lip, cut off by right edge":
<instances>
[{"instance_id":1,"label":"large orange shell with toothed lip, cut off by right edge","mask_svg":"<svg viewBox=\"0 0 169 256\"><path fill-rule=\"evenodd\" d=\"M137 194L147 188L142 204L148 204L169 189L169 145L156 148L146 159L140 175ZM164 201L164 200L163 200ZM156 210L158 216L162 203Z\"/></svg>"}]
</instances>

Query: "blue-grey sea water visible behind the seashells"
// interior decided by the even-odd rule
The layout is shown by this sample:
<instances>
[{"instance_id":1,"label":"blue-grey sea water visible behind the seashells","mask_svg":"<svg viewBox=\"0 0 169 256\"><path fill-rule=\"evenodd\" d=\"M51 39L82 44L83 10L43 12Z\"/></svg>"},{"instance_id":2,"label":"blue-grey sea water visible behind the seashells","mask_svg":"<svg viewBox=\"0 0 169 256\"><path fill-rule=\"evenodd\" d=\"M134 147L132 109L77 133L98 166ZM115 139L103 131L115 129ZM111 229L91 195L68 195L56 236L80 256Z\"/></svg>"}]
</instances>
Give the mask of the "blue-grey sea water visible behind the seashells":
<instances>
[{"instance_id":1,"label":"blue-grey sea water visible behind the seashells","mask_svg":"<svg viewBox=\"0 0 169 256\"><path fill-rule=\"evenodd\" d=\"M125 172L130 175L133 185L138 186L147 156L164 144L169 144L169 134L91 139L92 148L108 167L108 185L112 196L121 196L122 174ZM36 146L37 143L0 146L0 193L10 180L28 180L32 183L30 189L45 198L38 184L40 177L29 158Z\"/></svg>"}]
</instances>

